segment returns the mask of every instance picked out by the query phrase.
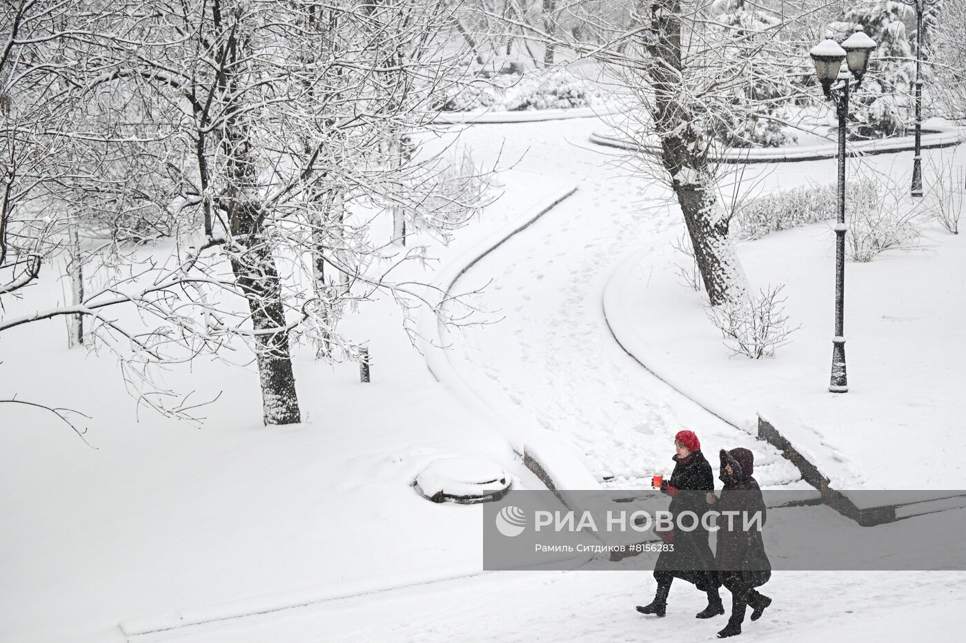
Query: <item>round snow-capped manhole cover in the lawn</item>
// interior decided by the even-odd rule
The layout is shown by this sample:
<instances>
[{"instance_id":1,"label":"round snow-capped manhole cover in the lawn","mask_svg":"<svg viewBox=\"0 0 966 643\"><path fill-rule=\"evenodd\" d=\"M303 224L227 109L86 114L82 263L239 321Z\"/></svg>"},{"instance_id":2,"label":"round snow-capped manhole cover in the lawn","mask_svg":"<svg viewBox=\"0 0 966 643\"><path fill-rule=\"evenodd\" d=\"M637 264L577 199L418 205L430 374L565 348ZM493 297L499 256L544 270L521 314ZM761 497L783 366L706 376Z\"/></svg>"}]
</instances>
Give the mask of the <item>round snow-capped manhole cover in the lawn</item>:
<instances>
[{"instance_id":1,"label":"round snow-capped manhole cover in the lawn","mask_svg":"<svg viewBox=\"0 0 966 643\"><path fill-rule=\"evenodd\" d=\"M495 461L480 458L440 458L426 465L412 486L433 502L471 504L497 500L510 490L512 480Z\"/></svg>"}]
</instances>

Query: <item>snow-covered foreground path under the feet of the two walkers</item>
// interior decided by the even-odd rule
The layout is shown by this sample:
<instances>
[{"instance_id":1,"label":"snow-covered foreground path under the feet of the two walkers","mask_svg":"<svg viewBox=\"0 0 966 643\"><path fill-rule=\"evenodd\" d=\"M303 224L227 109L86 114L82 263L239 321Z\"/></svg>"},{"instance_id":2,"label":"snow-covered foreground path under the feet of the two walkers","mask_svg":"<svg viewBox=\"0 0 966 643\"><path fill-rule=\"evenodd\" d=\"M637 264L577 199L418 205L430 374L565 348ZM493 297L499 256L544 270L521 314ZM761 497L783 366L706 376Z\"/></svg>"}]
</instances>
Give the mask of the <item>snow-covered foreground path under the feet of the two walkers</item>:
<instances>
[{"instance_id":1,"label":"snow-covered foreground path under the feet of the two walkers","mask_svg":"<svg viewBox=\"0 0 966 643\"><path fill-rule=\"evenodd\" d=\"M143 638L144 643L717 640L725 617L696 620L706 601L687 583L671 587L667 617L635 611L635 604L651 600L653 586L650 573L643 572L484 573ZM760 621L746 619L743 641L897 643L915 637L946 643L960 636L950 615L966 608L962 573L788 572L775 574L762 591L775 602ZM726 591L723 598L728 605Z\"/></svg>"}]
</instances>

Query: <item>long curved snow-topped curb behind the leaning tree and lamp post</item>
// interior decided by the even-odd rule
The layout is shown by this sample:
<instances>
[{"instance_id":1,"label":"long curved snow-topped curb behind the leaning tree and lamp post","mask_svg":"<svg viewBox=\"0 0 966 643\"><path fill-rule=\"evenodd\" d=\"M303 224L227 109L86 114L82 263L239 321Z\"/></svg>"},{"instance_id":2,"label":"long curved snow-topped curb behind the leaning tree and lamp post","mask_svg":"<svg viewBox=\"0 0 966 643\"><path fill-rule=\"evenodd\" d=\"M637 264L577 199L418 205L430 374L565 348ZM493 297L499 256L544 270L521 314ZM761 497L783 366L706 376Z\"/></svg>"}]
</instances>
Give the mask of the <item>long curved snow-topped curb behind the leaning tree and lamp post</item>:
<instances>
[{"instance_id":1,"label":"long curved snow-topped curb behind the leaning tree and lamp post","mask_svg":"<svg viewBox=\"0 0 966 643\"><path fill-rule=\"evenodd\" d=\"M963 135L957 127L930 125L928 130L923 130L922 148L923 150L949 148L958 145L962 140ZM593 132L590 134L590 142L596 143L597 145L618 148L620 150L645 152L648 154L661 153L661 146L656 143L638 144L611 132ZM849 143L846 148L846 154L849 156L890 154L913 150L914 147L915 138L913 136L901 136L879 141ZM829 143L785 148L753 148L748 150L730 148L721 154L711 154L710 160L721 163L780 163L819 160L823 158L835 158L836 156L838 156L838 145L836 143Z\"/></svg>"}]
</instances>

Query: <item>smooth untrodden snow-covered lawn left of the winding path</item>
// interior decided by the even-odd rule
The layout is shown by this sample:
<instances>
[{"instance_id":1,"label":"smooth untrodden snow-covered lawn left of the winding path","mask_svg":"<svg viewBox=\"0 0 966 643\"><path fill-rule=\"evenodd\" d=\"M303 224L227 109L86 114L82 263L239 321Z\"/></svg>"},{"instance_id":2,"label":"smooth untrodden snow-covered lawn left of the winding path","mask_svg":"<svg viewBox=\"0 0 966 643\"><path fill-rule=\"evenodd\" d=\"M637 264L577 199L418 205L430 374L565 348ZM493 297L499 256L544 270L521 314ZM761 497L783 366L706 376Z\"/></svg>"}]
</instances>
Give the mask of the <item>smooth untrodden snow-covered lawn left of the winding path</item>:
<instances>
[{"instance_id":1,"label":"smooth untrodden snow-covered lawn left of the winding path","mask_svg":"<svg viewBox=\"0 0 966 643\"><path fill-rule=\"evenodd\" d=\"M433 266L465 266L473 255L461 253L481 238L558 197L558 180L526 177ZM60 285L48 279L15 306L45 300L40 289ZM198 400L224 389L196 429L138 413L113 357L65 349L59 322L5 333L5 389L94 419L82 424L88 447L40 410L3 406L0 640L117 640L119 622L153 614L210 620L427 570L478 572L482 552L466 544L477 542L479 508L429 502L412 480L430 461L471 455L506 469L516 489L543 484L501 427L427 370L393 302L374 302L346 327L368 340L372 382L358 383L355 363L327 367L299 350L303 424L273 428L262 427L252 364L196 360L165 374L196 387Z\"/></svg>"}]
</instances>

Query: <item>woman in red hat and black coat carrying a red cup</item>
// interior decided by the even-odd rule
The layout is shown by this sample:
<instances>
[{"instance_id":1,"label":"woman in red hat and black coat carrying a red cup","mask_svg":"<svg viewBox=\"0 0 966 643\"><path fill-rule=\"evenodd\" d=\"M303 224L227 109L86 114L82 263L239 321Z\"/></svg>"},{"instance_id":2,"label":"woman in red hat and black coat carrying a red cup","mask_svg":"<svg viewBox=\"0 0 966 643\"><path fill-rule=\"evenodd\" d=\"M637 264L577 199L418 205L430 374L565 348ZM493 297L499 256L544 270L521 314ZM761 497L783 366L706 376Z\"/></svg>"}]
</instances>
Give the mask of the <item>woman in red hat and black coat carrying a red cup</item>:
<instances>
[{"instance_id":1,"label":"woman in red hat and black coat carrying a red cup","mask_svg":"<svg viewBox=\"0 0 966 643\"><path fill-rule=\"evenodd\" d=\"M641 614L664 616L668 606L668 593L675 577L694 583L696 588L708 595L708 605L696 614L707 619L725 613L718 588L721 582L715 571L714 554L708 545L708 531L703 526L704 514L708 512L705 494L715 489L715 477L711 464L701 453L701 443L692 431L680 431L674 436L674 470L670 480L661 484L661 490L671 496L668 511L674 517L691 511L698 517L696 529L675 529L668 536L662 535L672 550L662 551L654 567L654 579L658 582L654 601L638 605Z\"/></svg>"}]
</instances>

